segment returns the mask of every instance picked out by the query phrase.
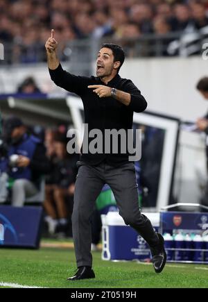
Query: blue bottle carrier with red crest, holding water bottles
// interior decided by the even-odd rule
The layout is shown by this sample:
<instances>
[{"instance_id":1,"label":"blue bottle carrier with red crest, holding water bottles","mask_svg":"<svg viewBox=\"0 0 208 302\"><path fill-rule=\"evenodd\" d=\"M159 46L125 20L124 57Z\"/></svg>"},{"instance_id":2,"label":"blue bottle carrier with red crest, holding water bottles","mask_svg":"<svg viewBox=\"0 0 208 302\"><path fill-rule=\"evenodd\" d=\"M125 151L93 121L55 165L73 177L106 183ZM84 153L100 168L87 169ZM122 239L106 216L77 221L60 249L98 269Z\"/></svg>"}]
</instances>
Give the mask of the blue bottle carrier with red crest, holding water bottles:
<instances>
[{"instance_id":1,"label":"blue bottle carrier with red crest, holding water bottles","mask_svg":"<svg viewBox=\"0 0 208 302\"><path fill-rule=\"evenodd\" d=\"M161 212L169 262L208 264L208 212Z\"/></svg>"}]
</instances>

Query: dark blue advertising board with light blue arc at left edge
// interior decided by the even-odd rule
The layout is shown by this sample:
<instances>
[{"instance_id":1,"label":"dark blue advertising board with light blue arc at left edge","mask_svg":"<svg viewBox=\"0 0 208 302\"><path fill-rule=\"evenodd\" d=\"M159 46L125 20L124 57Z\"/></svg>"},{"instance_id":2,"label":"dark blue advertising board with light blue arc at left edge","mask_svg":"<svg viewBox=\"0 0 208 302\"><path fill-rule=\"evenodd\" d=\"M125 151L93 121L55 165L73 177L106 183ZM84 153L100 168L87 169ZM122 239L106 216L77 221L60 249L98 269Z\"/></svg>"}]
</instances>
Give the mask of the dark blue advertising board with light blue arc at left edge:
<instances>
[{"instance_id":1,"label":"dark blue advertising board with light blue arc at left edge","mask_svg":"<svg viewBox=\"0 0 208 302\"><path fill-rule=\"evenodd\" d=\"M41 220L42 207L0 206L0 248L8 246L38 249Z\"/></svg>"}]
</instances>

